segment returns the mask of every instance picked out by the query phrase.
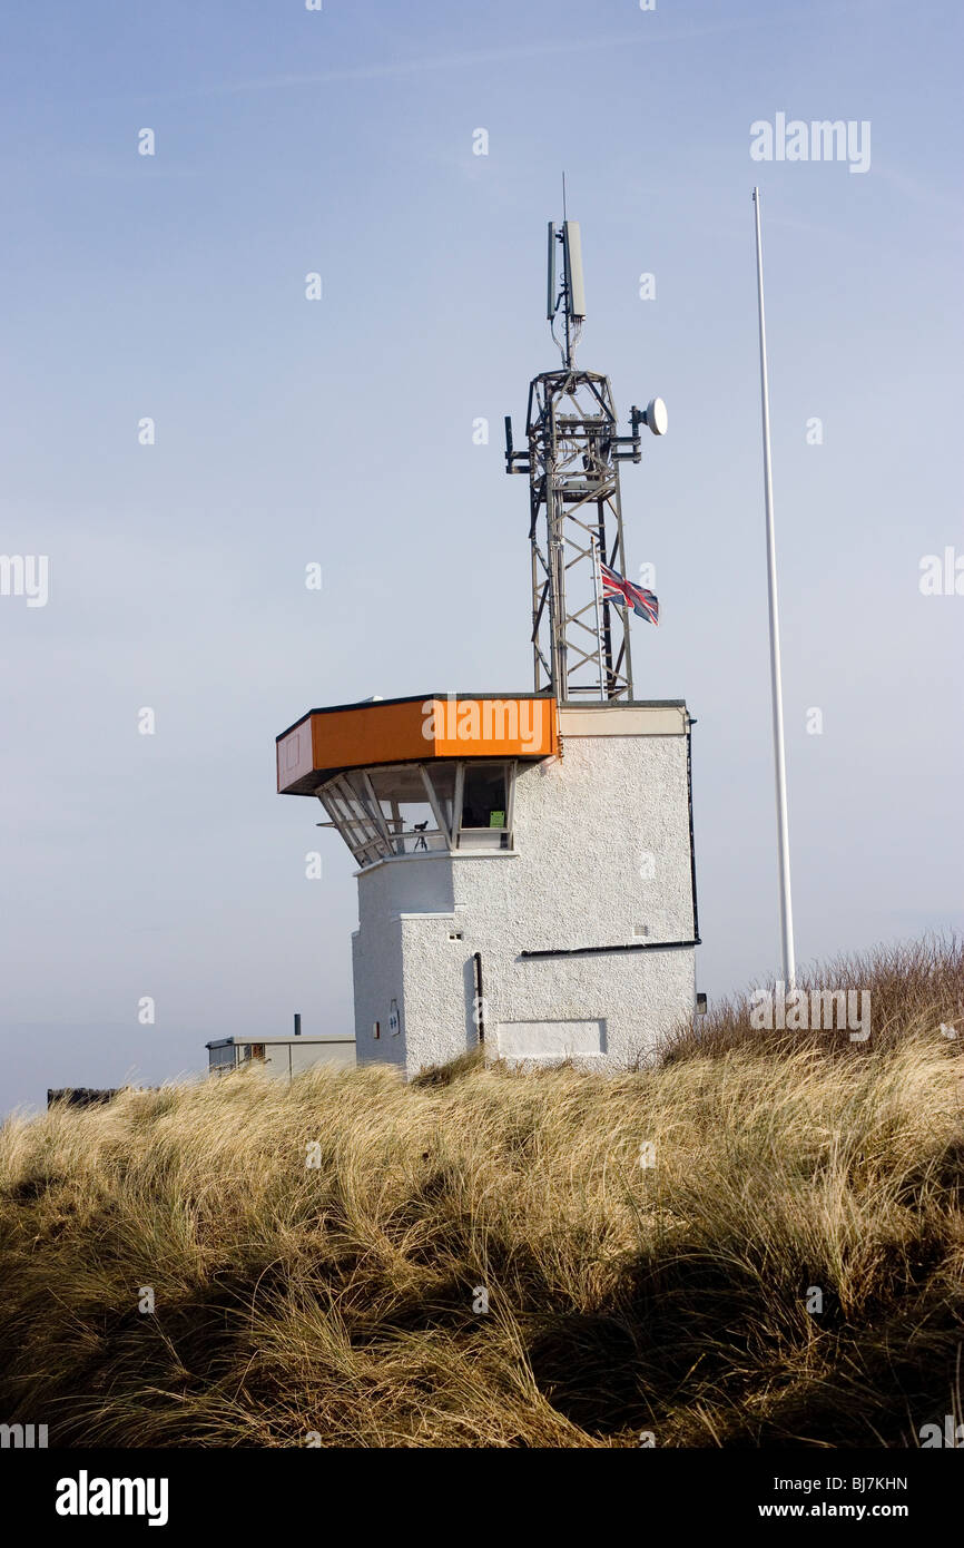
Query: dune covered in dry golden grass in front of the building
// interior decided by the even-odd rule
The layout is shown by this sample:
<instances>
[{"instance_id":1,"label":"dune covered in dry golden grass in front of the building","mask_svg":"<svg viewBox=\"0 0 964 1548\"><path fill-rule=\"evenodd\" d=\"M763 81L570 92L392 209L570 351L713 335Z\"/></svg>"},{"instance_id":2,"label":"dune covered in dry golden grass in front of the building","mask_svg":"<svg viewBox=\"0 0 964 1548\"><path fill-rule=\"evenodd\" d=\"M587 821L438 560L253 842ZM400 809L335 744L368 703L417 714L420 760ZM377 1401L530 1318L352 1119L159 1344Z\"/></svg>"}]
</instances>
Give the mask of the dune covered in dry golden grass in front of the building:
<instances>
[{"instance_id":1,"label":"dune covered in dry golden grass in front of the building","mask_svg":"<svg viewBox=\"0 0 964 1548\"><path fill-rule=\"evenodd\" d=\"M51 1446L913 1446L961 1423L964 961L822 977L845 971L874 997L862 1045L750 1033L743 1003L614 1079L251 1071L11 1121L2 1416Z\"/></svg>"}]
</instances>

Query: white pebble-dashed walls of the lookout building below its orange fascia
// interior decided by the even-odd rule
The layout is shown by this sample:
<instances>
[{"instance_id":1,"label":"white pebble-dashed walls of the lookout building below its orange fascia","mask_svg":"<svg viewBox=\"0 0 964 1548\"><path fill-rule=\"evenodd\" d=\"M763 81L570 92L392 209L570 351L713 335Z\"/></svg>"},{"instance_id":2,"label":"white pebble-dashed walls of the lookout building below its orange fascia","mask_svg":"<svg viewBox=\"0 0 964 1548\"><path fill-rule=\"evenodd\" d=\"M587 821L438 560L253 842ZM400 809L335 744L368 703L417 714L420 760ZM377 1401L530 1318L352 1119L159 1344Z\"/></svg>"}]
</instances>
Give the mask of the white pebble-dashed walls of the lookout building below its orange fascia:
<instances>
[{"instance_id":1,"label":"white pebble-dashed walls of the lookout building below its orange fascia","mask_svg":"<svg viewBox=\"0 0 964 1548\"><path fill-rule=\"evenodd\" d=\"M620 724L614 714L605 711L607 732ZM641 714L650 712L627 711L625 723L636 729ZM665 726L667 711L651 715ZM537 1062L568 1053L591 1068L625 1068L692 1014L689 946L520 957L693 933L684 715L670 717L673 734L655 735L573 734L593 726L591 711L563 711L560 721L563 755L518 766L512 853L405 856L359 873L359 1062L391 1060L412 1074L475 1046L475 952L494 1057L501 1042L511 1057L531 1048Z\"/></svg>"}]
</instances>

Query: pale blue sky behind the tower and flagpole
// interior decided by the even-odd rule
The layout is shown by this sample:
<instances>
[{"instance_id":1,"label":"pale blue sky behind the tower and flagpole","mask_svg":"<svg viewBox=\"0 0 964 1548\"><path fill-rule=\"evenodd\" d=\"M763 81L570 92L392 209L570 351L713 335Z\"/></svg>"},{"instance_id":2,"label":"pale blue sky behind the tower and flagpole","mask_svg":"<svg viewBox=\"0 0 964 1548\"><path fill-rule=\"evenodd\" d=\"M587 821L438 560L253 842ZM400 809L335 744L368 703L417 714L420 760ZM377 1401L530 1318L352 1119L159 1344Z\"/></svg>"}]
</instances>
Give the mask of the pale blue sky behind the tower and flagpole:
<instances>
[{"instance_id":1,"label":"pale blue sky behind the tower and flagpole","mask_svg":"<svg viewBox=\"0 0 964 1548\"><path fill-rule=\"evenodd\" d=\"M370 694L529 687L500 426L557 359L563 166L580 361L622 413L670 407L624 509L662 607L638 694L699 721L699 988L778 960L755 181L797 952L964 924L964 596L918 585L922 556L964 556L962 31L956 5L885 0L3 19L0 551L48 554L51 590L0 598L0 1108L200 1068L207 1037L294 1009L351 1026L351 859L274 794L274 735ZM870 121L867 175L750 161L777 111Z\"/></svg>"}]
</instances>

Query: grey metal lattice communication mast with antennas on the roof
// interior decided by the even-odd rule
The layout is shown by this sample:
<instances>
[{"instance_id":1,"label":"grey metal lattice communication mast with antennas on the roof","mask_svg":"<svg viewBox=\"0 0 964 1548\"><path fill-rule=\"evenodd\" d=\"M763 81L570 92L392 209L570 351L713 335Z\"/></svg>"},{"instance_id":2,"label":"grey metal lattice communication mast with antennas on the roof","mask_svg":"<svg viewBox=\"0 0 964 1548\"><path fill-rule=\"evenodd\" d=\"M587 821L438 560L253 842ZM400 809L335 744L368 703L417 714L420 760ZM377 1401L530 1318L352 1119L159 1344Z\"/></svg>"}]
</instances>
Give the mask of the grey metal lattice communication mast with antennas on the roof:
<instances>
[{"instance_id":1,"label":"grey metal lattice communication mast with antennas on the roof","mask_svg":"<svg viewBox=\"0 0 964 1548\"><path fill-rule=\"evenodd\" d=\"M529 384L528 450L515 450L506 415L506 472L529 475L535 692L551 690L560 704L631 700L630 624L625 608L602 594L599 560L627 574L619 463L641 461L641 426L662 435L667 412L653 398L630 410L631 433L617 433L608 376L576 367L586 316L577 221L560 229L549 221L548 257L546 316L562 370Z\"/></svg>"}]
</instances>

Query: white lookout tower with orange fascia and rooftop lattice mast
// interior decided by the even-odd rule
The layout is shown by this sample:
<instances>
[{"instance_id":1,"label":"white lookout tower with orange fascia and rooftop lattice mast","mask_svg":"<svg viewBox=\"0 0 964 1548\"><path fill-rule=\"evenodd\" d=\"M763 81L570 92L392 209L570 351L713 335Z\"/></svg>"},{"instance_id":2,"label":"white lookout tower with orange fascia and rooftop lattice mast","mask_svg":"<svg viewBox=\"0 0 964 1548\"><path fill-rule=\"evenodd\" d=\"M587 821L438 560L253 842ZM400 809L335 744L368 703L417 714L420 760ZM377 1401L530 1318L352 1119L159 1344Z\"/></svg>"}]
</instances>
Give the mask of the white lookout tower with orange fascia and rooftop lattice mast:
<instances>
[{"instance_id":1,"label":"white lookout tower with orange fascia and rooftop lattice mast","mask_svg":"<svg viewBox=\"0 0 964 1548\"><path fill-rule=\"evenodd\" d=\"M562 277L557 285L559 255ZM579 226L549 226L548 316L562 367L529 387L532 694L418 694L313 709L277 738L279 791L317 796L357 862L357 1060L415 1074L491 1057L619 1070L693 1014L696 876L690 726L633 695L610 382L579 370Z\"/></svg>"}]
</instances>

